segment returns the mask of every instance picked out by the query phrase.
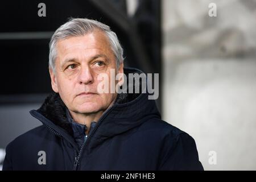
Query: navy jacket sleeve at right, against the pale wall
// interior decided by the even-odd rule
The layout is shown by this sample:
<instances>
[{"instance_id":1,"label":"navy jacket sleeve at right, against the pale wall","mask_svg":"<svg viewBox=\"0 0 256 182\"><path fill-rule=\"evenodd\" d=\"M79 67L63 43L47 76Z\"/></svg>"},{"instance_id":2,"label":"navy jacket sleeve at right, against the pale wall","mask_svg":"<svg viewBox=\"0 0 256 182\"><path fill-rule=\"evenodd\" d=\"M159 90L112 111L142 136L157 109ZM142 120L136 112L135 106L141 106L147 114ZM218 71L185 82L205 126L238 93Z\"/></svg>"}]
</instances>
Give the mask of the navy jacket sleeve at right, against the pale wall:
<instances>
[{"instance_id":1,"label":"navy jacket sleeve at right, against the pale wall","mask_svg":"<svg viewBox=\"0 0 256 182\"><path fill-rule=\"evenodd\" d=\"M187 133L169 137L164 142L159 170L204 170L195 140Z\"/></svg>"}]
</instances>

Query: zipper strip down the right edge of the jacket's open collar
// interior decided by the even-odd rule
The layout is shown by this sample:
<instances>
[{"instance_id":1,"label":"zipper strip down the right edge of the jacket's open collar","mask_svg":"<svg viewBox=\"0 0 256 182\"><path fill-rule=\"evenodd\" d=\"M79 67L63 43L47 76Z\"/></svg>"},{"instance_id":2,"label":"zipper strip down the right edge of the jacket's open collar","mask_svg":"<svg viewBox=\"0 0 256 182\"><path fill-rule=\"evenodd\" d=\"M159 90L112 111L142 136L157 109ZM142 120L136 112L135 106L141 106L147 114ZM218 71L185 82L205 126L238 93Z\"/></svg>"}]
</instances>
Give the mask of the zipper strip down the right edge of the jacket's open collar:
<instances>
[{"instance_id":1,"label":"zipper strip down the right edge of the jacket's open collar","mask_svg":"<svg viewBox=\"0 0 256 182\"><path fill-rule=\"evenodd\" d=\"M90 136L93 134L93 132L97 129L97 127L100 125L100 123L102 122L102 120L105 118L106 114L108 114L110 112L110 110L113 109L113 107L115 106L115 104L111 107L109 107L108 110L105 111L105 113L100 117L100 119L98 119L98 122L97 122L97 125L93 128L93 130L90 130L89 131L89 134L88 134L88 137L86 138L86 140L84 141L84 143L82 143L82 146L80 148L80 151L79 151L79 154L75 156L75 164L74 164L74 167L73 167L73 171L76 171L77 170L77 166L79 164L79 161L80 161L80 158L81 158L81 154L82 154L82 151L85 147L85 144L88 143L87 141L90 139Z\"/></svg>"}]
</instances>

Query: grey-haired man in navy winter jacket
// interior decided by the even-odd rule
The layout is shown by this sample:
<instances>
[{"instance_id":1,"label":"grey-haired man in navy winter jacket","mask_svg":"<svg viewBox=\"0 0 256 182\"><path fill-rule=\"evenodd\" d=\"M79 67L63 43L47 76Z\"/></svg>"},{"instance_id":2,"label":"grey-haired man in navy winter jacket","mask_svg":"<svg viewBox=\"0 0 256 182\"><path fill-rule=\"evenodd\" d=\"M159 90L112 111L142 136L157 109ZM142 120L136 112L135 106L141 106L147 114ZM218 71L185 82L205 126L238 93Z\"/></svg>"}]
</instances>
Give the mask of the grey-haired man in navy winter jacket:
<instances>
[{"instance_id":1,"label":"grey-haired man in navy winter jacket","mask_svg":"<svg viewBox=\"0 0 256 182\"><path fill-rule=\"evenodd\" d=\"M43 125L7 146L3 170L203 169L193 138L162 121L147 93L99 92L101 74L142 73L123 68L123 49L108 26L69 20L49 48L54 93L30 111Z\"/></svg>"}]
</instances>

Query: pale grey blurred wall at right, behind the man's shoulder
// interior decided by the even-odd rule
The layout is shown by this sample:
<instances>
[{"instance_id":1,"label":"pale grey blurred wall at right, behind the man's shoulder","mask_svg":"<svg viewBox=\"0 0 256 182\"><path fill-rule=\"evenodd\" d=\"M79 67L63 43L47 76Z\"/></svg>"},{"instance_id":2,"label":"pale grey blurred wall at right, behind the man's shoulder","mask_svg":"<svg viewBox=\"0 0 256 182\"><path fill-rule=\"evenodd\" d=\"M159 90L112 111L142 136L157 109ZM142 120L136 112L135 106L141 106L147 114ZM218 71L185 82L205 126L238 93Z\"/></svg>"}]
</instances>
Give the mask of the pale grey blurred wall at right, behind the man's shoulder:
<instances>
[{"instance_id":1,"label":"pale grey blurred wall at right, behind the man's shoulder","mask_svg":"<svg viewBox=\"0 0 256 182\"><path fill-rule=\"evenodd\" d=\"M196 140L206 170L255 170L256 2L163 0L162 10L163 118Z\"/></svg>"}]
</instances>

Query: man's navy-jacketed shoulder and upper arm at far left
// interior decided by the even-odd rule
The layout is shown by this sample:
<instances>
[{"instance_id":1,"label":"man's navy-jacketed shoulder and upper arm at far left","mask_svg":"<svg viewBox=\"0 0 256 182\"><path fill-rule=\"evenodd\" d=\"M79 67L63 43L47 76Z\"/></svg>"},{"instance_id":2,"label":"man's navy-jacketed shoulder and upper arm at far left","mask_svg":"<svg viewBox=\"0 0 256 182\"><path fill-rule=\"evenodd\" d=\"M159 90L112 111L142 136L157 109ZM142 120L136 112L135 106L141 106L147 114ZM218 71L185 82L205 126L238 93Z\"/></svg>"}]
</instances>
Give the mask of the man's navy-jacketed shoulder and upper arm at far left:
<instances>
[{"instance_id":1,"label":"man's navy-jacketed shoulder and upper arm at far left","mask_svg":"<svg viewBox=\"0 0 256 182\"><path fill-rule=\"evenodd\" d=\"M55 135L44 125L27 131L7 145L3 170L38 169L39 152L48 150L54 144Z\"/></svg>"}]
</instances>

